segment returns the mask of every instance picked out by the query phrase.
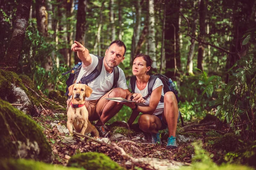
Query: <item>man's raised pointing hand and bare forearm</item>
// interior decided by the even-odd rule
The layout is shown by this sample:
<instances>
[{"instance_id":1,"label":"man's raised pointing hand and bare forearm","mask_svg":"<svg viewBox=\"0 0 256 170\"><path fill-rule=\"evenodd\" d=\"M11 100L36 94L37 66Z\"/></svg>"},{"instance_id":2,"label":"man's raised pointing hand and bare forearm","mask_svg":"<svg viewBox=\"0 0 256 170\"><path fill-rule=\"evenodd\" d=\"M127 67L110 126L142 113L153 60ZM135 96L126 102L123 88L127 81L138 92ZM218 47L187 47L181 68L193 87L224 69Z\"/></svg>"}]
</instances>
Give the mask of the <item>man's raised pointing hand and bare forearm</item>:
<instances>
[{"instance_id":1,"label":"man's raised pointing hand and bare forearm","mask_svg":"<svg viewBox=\"0 0 256 170\"><path fill-rule=\"evenodd\" d=\"M89 50L84 47L80 42L74 41L71 50L77 52L77 56L83 62L84 66L88 66L92 63L92 58L90 57Z\"/></svg>"}]
</instances>

